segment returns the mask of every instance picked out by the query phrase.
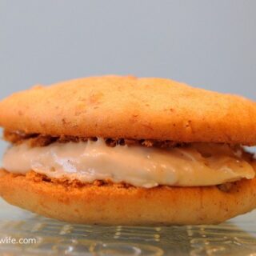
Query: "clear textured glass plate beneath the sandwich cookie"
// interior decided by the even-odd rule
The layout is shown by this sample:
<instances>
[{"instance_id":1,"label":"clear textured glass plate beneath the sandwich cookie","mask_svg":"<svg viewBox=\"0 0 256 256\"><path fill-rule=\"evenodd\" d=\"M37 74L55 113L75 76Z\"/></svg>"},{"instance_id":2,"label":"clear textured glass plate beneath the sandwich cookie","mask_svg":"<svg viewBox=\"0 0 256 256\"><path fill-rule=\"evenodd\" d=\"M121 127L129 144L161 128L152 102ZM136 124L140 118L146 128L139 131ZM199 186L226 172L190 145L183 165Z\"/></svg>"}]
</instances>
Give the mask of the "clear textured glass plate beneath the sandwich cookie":
<instances>
[{"instance_id":1,"label":"clear textured glass plate beneath the sandwich cookie","mask_svg":"<svg viewBox=\"0 0 256 256\"><path fill-rule=\"evenodd\" d=\"M217 226L86 226L0 200L0 255L256 256L256 212ZM20 240L22 238L22 240Z\"/></svg>"}]
</instances>

